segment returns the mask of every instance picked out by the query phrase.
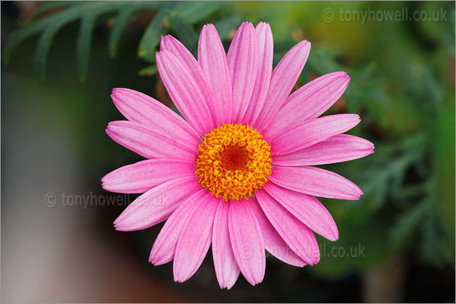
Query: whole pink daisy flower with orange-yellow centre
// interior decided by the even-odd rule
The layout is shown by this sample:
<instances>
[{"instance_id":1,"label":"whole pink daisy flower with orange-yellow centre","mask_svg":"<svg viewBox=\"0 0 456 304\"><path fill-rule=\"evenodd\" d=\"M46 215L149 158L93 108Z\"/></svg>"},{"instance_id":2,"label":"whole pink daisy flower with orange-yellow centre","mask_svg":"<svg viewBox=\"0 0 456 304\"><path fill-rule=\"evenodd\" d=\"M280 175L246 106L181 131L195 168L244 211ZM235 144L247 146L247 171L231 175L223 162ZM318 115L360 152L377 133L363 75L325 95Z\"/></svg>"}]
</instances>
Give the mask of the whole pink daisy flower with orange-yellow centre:
<instances>
[{"instance_id":1,"label":"whole pink daisy flower with orange-yellow centre","mask_svg":"<svg viewBox=\"0 0 456 304\"><path fill-rule=\"evenodd\" d=\"M115 88L128 121L107 134L147 160L103 177L112 192L143 193L114 222L121 231L166 221L149 261L172 261L175 281L189 279L212 245L221 288L239 273L263 280L265 250L298 267L315 264L315 233L337 240L337 226L315 197L358 199L363 192L312 165L373 153L373 144L342 134L358 115L319 117L342 95L349 76L335 72L291 90L310 52L295 45L272 71L267 23L242 23L226 55L214 25L201 30L198 60L170 35L156 54L158 71L179 117L142 93Z\"/></svg>"}]
</instances>

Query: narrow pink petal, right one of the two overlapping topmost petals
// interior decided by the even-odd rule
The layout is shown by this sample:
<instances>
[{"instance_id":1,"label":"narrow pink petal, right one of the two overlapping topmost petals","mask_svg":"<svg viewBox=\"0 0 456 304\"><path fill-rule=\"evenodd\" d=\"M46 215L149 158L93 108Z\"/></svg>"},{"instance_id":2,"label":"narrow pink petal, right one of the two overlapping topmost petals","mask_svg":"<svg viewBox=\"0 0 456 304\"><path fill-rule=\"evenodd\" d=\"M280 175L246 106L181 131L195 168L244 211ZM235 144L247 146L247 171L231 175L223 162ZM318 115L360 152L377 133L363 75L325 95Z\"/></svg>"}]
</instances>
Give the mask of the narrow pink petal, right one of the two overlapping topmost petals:
<instances>
[{"instance_id":1,"label":"narrow pink petal, right one of the two overlapping topmost petals","mask_svg":"<svg viewBox=\"0 0 456 304\"><path fill-rule=\"evenodd\" d=\"M247 112L242 118L242 124L252 124L262 110L269 88L272 73L272 57L274 55L274 40L268 23L260 22L255 28L258 40L258 70L257 80L252 93Z\"/></svg>"}]
</instances>

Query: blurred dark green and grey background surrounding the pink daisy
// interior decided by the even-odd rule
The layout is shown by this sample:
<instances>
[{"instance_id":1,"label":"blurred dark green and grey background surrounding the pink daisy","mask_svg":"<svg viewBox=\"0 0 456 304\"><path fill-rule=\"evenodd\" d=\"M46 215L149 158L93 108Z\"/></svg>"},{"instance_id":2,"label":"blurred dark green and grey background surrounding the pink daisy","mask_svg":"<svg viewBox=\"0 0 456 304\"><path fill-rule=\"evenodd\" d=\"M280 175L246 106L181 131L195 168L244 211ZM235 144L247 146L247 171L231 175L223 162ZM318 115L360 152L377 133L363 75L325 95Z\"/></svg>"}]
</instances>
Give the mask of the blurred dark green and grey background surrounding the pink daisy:
<instances>
[{"instance_id":1,"label":"blurred dark green and grey background surrounding the pink daisy","mask_svg":"<svg viewBox=\"0 0 456 304\"><path fill-rule=\"evenodd\" d=\"M228 49L242 21L271 24L274 64L312 42L296 88L347 71L329 112L362 122L375 144L325 165L359 201L322 199L339 240L303 269L267 259L263 283L220 290L211 250L185 283L148 254L161 226L115 231L135 199L100 178L141 160L106 134L123 119L112 88L173 107L156 71L161 35L192 52L214 23ZM455 301L455 4L453 2L1 1L1 302Z\"/></svg>"}]
</instances>

